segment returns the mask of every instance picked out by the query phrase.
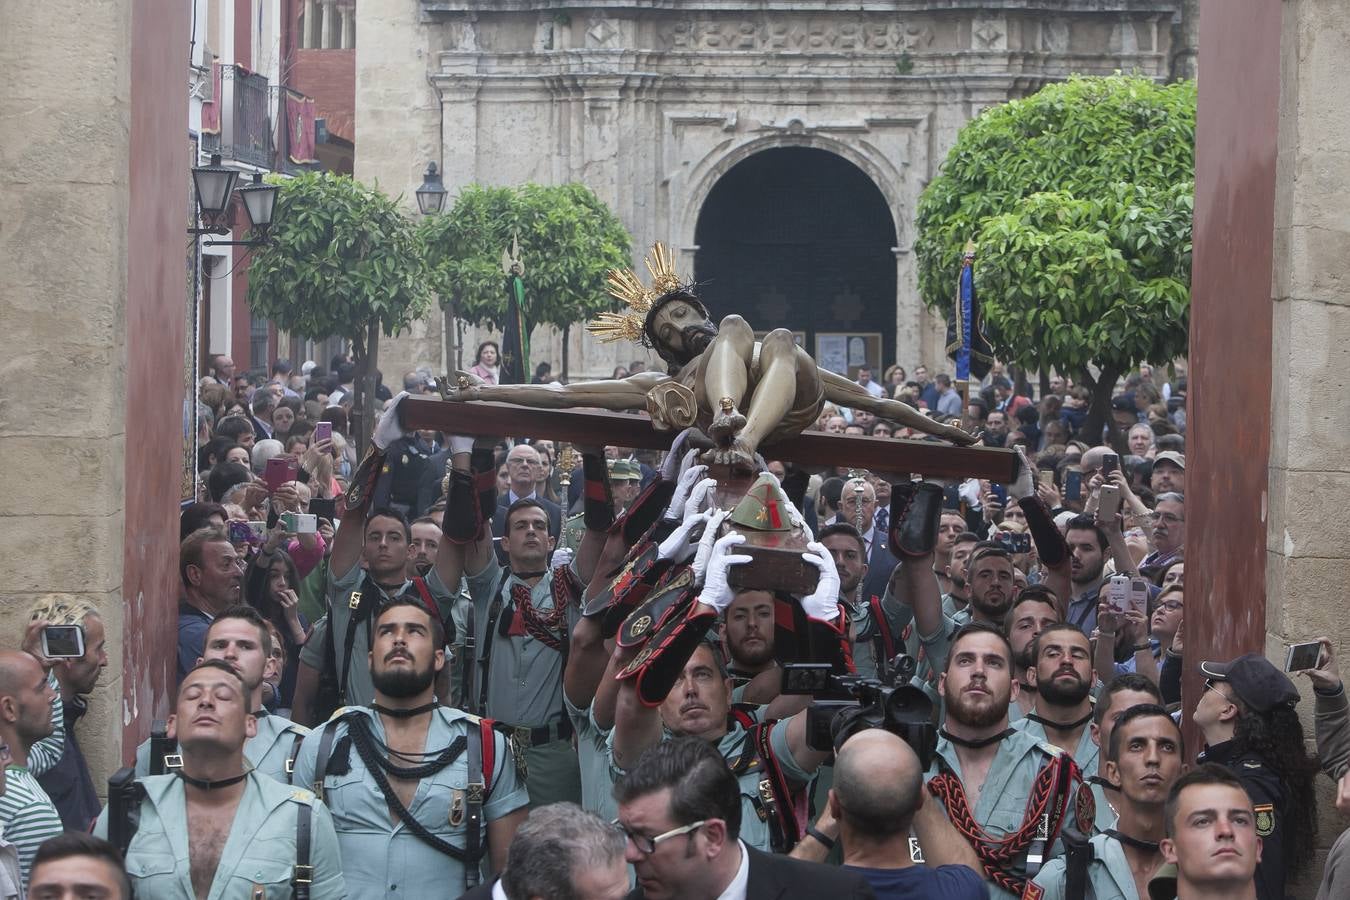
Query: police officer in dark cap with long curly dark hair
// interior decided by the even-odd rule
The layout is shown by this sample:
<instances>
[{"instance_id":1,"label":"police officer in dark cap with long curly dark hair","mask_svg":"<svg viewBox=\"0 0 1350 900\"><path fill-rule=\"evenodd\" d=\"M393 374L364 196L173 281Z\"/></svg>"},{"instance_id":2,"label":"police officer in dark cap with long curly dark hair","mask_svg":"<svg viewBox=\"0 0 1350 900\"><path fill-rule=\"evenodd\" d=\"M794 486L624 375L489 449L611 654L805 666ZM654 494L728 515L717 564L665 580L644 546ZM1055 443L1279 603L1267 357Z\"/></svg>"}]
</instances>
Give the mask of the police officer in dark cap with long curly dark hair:
<instances>
[{"instance_id":1,"label":"police officer in dark cap with long curly dark hair","mask_svg":"<svg viewBox=\"0 0 1350 900\"><path fill-rule=\"evenodd\" d=\"M1311 855L1318 762L1303 743L1299 691L1260 653L1202 663L1208 679L1195 708L1206 748L1197 762L1226 765L1251 796L1261 864L1257 897L1285 899L1285 874Z\"/></svg>"}]
</instances>

